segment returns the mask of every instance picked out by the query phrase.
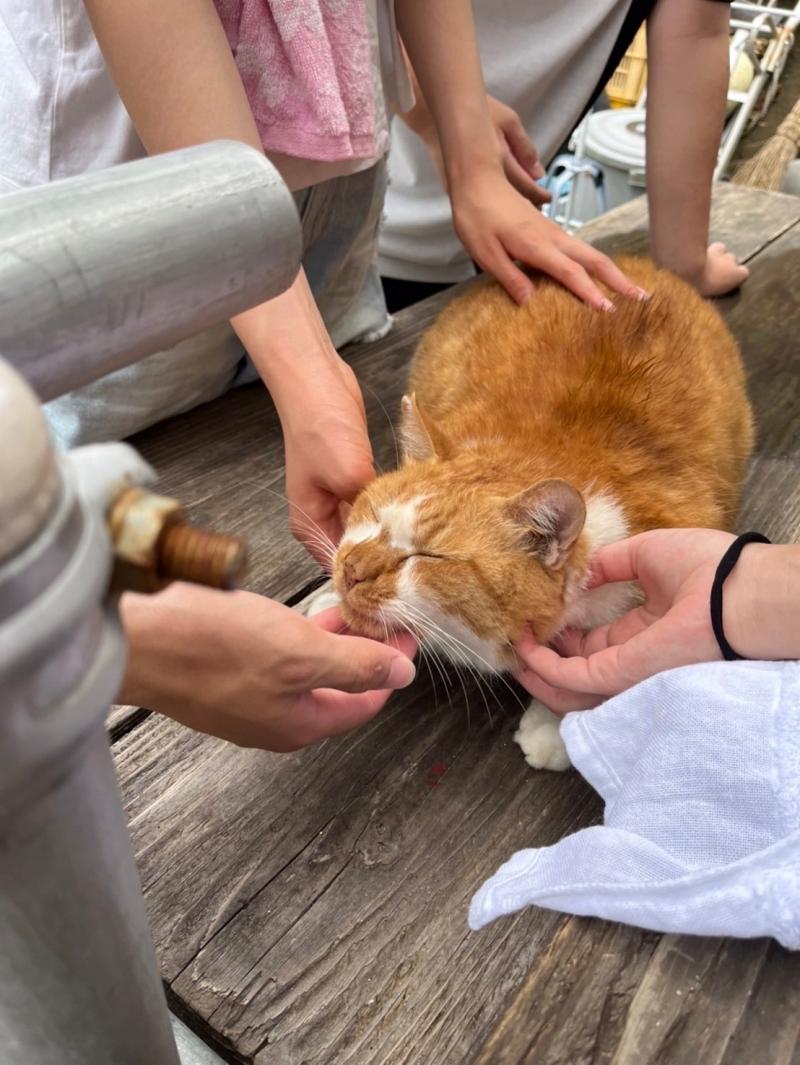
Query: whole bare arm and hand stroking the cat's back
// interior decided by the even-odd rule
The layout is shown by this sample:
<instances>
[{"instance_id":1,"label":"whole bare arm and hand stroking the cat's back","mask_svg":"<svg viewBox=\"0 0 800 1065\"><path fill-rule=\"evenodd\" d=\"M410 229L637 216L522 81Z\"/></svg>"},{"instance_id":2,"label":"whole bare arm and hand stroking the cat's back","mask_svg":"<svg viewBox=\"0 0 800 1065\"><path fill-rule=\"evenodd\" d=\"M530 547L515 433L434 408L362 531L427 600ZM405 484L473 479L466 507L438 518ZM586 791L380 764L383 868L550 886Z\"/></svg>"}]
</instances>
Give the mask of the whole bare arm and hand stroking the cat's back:
<instances>
[{"instance_id":1,"label":"whole bare arm and hand stroking the cat's back","mask_svg":"<svg viewBox=\"0 0 800 1065\"><path fill-rule=\"evenodd\" d=\"M640 297L610 259L543 218L506 179L469 0L399 0L396 15L436 124L456 232L472 258L518 302L529 298L534 286L516 259L602 310L610 304L597 281Z\"/></svg>"}]
</instances>

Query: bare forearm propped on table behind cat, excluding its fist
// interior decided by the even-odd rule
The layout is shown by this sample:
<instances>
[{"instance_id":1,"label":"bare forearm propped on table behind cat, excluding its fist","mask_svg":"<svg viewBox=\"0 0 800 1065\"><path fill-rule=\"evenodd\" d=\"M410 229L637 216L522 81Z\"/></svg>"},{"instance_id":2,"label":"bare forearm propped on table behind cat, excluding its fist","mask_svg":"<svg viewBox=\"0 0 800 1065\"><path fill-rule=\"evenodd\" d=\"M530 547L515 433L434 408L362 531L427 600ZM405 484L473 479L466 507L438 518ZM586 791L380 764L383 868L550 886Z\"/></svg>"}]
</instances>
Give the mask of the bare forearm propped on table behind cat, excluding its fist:
<instances>
[{"instance_id":1,"label":"bare forearm propped on table behind cat, excluding its fist","mask_svg":"<svg viewBox=\"0 0 800 1065\"><path fill-rule=\"evenodd\" d=\"M729 10L660 0L648 21L647 166L657 262L697 281L729 81Z\"/></svg>"}]
</instances>

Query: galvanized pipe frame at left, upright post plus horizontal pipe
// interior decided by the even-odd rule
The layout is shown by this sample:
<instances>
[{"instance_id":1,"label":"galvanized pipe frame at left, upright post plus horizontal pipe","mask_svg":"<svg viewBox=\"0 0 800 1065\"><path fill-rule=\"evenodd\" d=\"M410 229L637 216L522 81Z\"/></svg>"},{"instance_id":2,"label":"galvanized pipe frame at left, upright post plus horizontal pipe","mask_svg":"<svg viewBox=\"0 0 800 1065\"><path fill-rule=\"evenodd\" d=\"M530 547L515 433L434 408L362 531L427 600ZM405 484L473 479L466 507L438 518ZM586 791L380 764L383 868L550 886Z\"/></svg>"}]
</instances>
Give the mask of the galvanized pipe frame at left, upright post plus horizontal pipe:
<instances>
[{"instance_id":1,"label":"galvanized pipe frame at left, upright post plus horizontal pipe","mask_svg":"<svg viewBox=\"0 0 800 1065\"><path fill-rule=\"evenodd\" d=\"M291 196L242 146L12 194L0 350L52 397L277 295L298 261ZM3 1065L217 1060L181 1026L176 1049L103 727L125 663L107 514L152 478L125 444L56 462L0 359Z\"/></svg>"}]
</instances>

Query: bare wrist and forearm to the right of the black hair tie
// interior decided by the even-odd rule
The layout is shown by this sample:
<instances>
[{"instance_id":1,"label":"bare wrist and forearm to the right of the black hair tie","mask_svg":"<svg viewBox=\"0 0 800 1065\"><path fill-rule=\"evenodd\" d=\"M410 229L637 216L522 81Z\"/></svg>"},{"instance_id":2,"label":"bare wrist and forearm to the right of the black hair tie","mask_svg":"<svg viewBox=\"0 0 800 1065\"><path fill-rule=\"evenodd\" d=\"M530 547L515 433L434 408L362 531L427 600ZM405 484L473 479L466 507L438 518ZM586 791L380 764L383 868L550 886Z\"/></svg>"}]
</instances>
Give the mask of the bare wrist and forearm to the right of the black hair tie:
<instances>
[{"instance_id":1,"label":"bare wrist and forearm to the right of the black hair tie","mask_svg":"<svg viewBox=\"0 0 800 1065\"><path fill-rule=\"evenodd\" d=\"M748 658L800 658L800 544L749 544L724 584L723 626Z\"/></svg>"}]
</instances>

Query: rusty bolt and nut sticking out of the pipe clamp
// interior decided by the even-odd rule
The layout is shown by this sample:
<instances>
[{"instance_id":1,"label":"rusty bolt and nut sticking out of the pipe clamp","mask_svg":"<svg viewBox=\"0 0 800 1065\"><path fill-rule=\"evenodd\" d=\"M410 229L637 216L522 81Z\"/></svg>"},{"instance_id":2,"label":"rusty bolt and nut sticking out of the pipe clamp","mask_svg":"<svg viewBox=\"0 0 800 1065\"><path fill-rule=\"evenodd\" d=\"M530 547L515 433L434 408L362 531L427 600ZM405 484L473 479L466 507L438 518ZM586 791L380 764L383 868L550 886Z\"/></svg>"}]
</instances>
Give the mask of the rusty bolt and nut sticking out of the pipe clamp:
<instances>
[{"instance_id":1,"label":"rusty bolt and nut sticking out of the pipe clamp","mask_svg":"<svg viewBox=\"0 0 800 1065\"><path fill-rule=\"evenodd\" d=\"M154 592L170 580L230 589L244 573L244 541L190 525L177 499L127 488L108 523L116 590Z\"/></svg>"}]
</instances>

